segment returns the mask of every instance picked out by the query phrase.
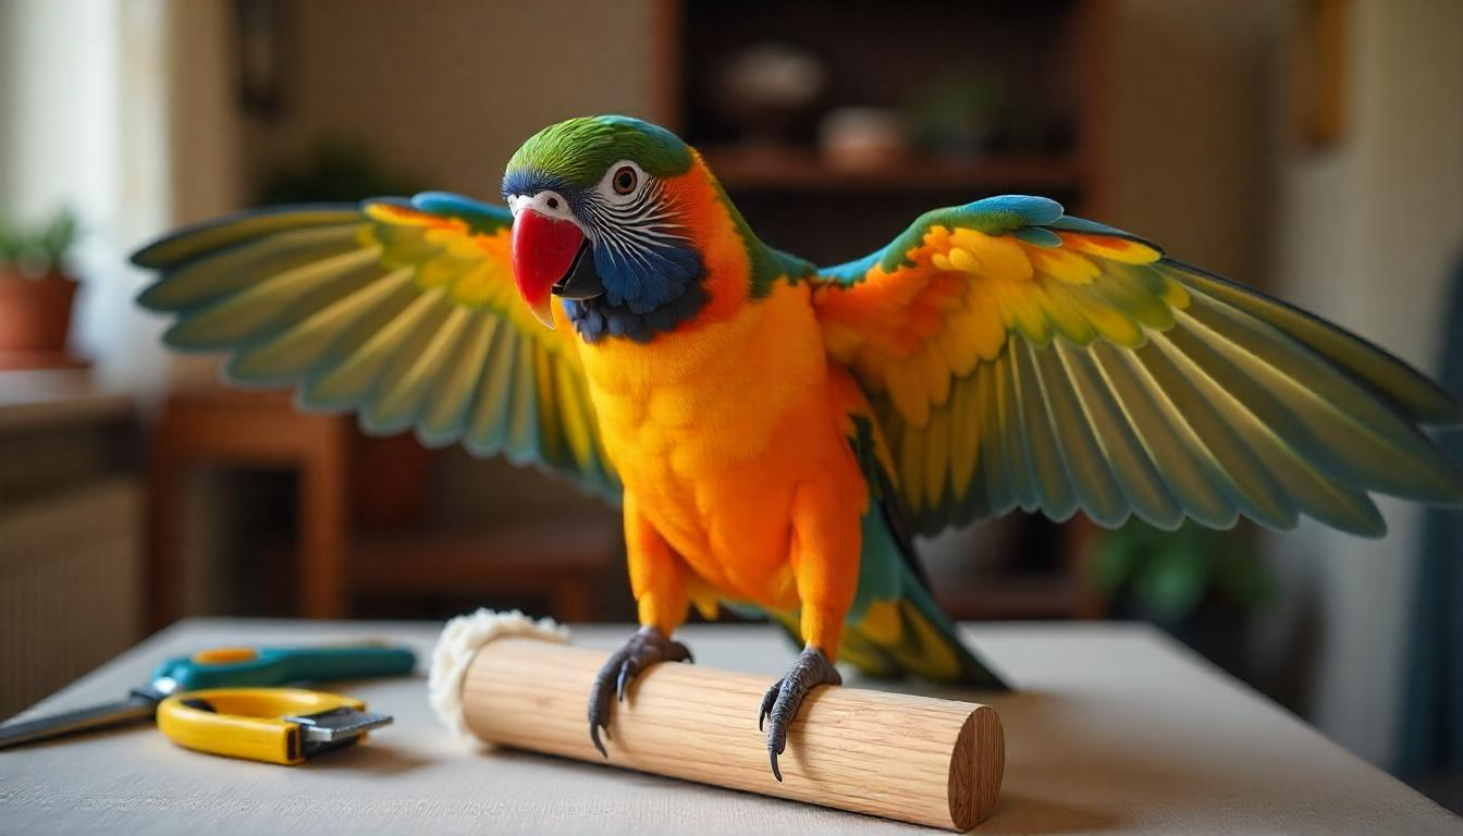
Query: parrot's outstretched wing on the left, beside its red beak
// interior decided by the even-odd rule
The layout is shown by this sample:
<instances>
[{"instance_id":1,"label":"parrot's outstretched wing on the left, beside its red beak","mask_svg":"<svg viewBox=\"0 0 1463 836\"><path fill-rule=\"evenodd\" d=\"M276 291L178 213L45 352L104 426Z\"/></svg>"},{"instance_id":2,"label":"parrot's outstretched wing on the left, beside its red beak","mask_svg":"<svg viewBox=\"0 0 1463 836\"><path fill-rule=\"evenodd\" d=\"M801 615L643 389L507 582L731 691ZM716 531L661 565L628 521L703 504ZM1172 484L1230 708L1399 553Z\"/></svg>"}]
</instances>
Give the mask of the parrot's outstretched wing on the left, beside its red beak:
<instances>
[{"instance_id":1,"label":"parrot's outstretched wing on the left, beside its red beak","mask_svg":"<svg viewBox=\"0 0 1463 836\"><path fill-rule=\"evenodd\" d=\"M502 452L617 501L572 331L518 302L508 209L445 193L282 206L180 230L133 255L164 340L228 351L225 376L298 387L369 433Z\"/></svg>"}]
</instances>

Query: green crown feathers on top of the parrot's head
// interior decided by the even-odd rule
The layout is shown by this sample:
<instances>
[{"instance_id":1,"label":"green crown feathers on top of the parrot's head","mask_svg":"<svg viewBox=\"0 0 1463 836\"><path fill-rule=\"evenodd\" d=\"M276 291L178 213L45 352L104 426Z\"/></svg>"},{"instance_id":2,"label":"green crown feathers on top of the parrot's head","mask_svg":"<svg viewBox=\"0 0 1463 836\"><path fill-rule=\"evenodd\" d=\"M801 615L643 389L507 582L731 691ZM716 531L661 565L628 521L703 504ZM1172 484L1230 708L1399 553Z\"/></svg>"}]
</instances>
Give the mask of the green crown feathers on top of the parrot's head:
<instances>
[{"instance_id":1,"label":"green crown feathers on top of the parrot's head","mask_svg":"<svg viewBox=\"0 0 1463 836\"><path fill-rule=\"evenodd\" d=\"M508 161L506 179L528 173L588 189L620 160L632 160L655 177L691 168L691 148L664 127L628 116L569 119L528 138Z\"/></svg>"}]
</instances>

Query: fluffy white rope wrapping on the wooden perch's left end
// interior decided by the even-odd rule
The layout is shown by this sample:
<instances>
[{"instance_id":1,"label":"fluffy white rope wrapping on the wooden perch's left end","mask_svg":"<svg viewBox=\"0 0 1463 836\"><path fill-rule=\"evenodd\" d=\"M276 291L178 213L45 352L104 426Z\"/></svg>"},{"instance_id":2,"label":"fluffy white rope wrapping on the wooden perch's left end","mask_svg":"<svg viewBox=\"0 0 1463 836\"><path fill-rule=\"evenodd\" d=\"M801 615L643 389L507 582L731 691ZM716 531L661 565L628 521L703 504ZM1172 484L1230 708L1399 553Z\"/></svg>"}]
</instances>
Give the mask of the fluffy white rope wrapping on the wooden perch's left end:
<instances>
[{"instance_id":1,"label":"fluffy white rope wrapping on the wooden perch's left end","mask_svg":"<svg viewBox=\"0 0 1463 836\"><path fill-rule=\"evenodd\" d=\"M552 618L534 621L516 609L478 609L446 622L432 650L427 691L437 719L461 738L473 736L462 720L462 679L478 649L500 635L528 635L565 644L569 641L569 628Z\"/></svg>"}]
</instances>

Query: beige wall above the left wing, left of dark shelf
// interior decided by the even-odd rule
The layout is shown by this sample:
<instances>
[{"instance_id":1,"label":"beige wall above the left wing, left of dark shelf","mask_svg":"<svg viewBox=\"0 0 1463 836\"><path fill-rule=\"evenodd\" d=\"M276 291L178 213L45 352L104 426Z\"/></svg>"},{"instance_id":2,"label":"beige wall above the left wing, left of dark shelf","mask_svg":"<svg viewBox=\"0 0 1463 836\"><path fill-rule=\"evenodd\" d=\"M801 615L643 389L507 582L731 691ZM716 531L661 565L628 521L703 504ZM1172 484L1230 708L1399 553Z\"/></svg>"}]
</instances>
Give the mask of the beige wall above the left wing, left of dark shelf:
<instances>
[{"instance_id":1,"label":"beige wall above the left wing, left of dark shelf","mask_svg":"<svg viewBox=\"0 0 1463 836\"><path fill-rule=\"evenodd\" d=\"M534 130L654 116L651 0L312 0L285 4L285 110L246 133L253 168L347 136L436 187L496 199Z\"/></svg>"}]
</instances>

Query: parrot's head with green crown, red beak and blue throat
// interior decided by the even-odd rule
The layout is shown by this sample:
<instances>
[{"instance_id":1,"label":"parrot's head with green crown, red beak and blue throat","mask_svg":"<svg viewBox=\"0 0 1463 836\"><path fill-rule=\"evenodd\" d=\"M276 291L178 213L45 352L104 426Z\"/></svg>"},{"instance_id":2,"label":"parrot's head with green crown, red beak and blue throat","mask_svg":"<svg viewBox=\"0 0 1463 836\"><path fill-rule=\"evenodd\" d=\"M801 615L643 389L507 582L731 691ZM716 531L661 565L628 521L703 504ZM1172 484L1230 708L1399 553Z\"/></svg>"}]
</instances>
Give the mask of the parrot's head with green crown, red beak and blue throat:
<instances>
[{"instance_id":1,"label":"parrot's head with green crown, red beak and blue throat","mask_svg":"<svg viewBox=\"0 0 1463 836\"><path fill-rule=\"evenodd\" d=\"M554 297L588 341L648 338L707 299L686 183L701 163L674 133L622 116L552 124L514 154L514 278L540 322Z\"/></svg>"}]
</instances>

